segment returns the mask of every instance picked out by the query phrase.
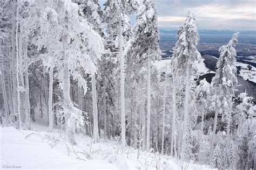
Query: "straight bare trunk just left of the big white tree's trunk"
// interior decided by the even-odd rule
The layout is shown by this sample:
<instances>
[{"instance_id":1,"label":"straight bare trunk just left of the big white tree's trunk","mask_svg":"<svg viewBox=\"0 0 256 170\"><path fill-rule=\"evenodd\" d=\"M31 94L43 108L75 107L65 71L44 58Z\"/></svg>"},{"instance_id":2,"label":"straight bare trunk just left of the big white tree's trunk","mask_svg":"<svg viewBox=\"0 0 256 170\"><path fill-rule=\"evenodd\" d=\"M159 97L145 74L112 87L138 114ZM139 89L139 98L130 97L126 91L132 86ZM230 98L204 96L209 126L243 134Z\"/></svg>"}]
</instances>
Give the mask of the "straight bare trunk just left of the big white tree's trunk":
<instances>
[{"instance_id":1,"label":"straight bare trunk just left of the big white tree's trunk","mask_svg":"<svg viewBox=\"0 0 256 170\"><path fill-rule=\"evenodd\" d=\"M53 129L53 114L52 114L52 93L53 93L53 66L49 68L49 99L48 99L48 111L49 111L49 131Z\"/></svg>"}]
</instances>

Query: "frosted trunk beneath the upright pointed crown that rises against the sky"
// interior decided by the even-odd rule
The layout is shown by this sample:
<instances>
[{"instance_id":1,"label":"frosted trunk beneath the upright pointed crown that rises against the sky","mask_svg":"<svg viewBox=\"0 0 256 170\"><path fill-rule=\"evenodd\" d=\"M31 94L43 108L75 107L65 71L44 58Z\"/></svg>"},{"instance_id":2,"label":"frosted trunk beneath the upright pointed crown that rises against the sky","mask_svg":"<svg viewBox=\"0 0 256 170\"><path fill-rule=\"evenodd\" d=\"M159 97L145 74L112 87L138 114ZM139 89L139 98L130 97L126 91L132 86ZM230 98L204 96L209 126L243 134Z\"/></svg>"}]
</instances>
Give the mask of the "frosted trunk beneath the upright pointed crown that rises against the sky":
<instances>
[{"instance_id":1,"label":"frosted trunk beneath the upright pointed crown that rises against the sky","mask_svg":"<svg viewBox=\"0 0 256 170\"><path fill-rule=\"evenodd\" d=\"M186 85L185 85L185 101L184 101L184 121L183 121L183 134L181 143L181 160L185 160L185 146L187 137L187 116L188 116L188 102L190 101L190 66L186 70Z\"/></svg>"}]
</instances>

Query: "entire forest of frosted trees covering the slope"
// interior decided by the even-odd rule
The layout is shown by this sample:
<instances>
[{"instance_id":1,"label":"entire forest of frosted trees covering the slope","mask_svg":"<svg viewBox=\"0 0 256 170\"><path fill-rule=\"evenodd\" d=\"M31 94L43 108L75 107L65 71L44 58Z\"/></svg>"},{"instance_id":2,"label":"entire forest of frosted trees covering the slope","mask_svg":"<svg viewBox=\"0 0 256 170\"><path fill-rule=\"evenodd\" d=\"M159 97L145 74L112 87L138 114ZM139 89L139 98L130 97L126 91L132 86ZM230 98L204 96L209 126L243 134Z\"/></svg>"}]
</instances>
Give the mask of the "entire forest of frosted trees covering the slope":
<instances>
[{"instance_id":1,"label":"entire forest of frosted trees covering the slope","mask_svg":"<svg viewBox=\"0 0 256 170\"><path fill-rule=\"evenodd\" d=\"M120 137L122 148L219 169L255 168L256 107L238 86L234 33L217 72L199 80L199 34L188 12L163 71L153 0L2 0L2 125ZM130 16L136 16L134 26ZM38 116L37 116L38 115Z\"/></svg>"}]
</instances>

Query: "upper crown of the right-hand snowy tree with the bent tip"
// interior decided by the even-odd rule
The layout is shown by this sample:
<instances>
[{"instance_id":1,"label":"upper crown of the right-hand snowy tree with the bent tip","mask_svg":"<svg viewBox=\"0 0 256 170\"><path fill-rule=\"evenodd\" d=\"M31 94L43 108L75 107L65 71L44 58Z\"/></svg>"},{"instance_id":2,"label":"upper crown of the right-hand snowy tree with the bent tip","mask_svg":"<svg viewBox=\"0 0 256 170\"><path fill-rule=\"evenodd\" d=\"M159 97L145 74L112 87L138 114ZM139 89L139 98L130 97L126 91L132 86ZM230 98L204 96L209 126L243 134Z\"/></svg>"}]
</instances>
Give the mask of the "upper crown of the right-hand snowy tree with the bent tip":
<instances>
[{"instance_id":1,"label":"upper crown of the right-hand snowy tree with the bent tip","mask_svg":"<svg viewBox=\"0 0 256 170\"><path fill-rule=\"evenodd\" d=\"M233 35L233 38L228 42L227 45L223 45L219 48L220 57L217 62L217 72L213 77L212 86L214 87L225 87L231 89L227 91L228 94L233 95L233 89L237 84L237 67L235 67L235 44L238 43L237 37L239 32Z\"/></svg>"}]
</instances>

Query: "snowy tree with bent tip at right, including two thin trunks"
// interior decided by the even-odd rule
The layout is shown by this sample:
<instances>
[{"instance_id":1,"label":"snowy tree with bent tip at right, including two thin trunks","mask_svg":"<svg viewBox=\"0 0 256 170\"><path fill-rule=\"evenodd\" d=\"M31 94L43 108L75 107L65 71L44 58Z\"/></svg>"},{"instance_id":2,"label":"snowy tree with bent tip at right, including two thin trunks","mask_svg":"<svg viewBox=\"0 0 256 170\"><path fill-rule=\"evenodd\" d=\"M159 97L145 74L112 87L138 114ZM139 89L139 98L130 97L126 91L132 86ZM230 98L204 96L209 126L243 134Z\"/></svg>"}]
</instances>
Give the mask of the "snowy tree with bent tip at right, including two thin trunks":
<instances>
[{"instance_id":1,"label":"snowy tree with bent tip at right, including two thin trunks","mask_svg":"<svg viewBox=\"0 0 256 170\"><path fill-rule=\"evenodd\" d=\"M227 45L219 48L220 57L217 62L217 72L212 79L212 91L211 96L213 99L212 107L214 107L215 116L213 124L212 143L210 148L210 165L212 161L213 145L215 139L215 131L217 126L217 116L221 114L227 119L227 139L226 139L226 154L228 154L228 143L230 136L230 122L231 122L231 109L232 109L232 97L234 96L235 85L237 84L237 68L235 67L235 56L237 55L235 44L237 44L238 33L235 33L233 38Z\"/></svg>"}]
</instances>

